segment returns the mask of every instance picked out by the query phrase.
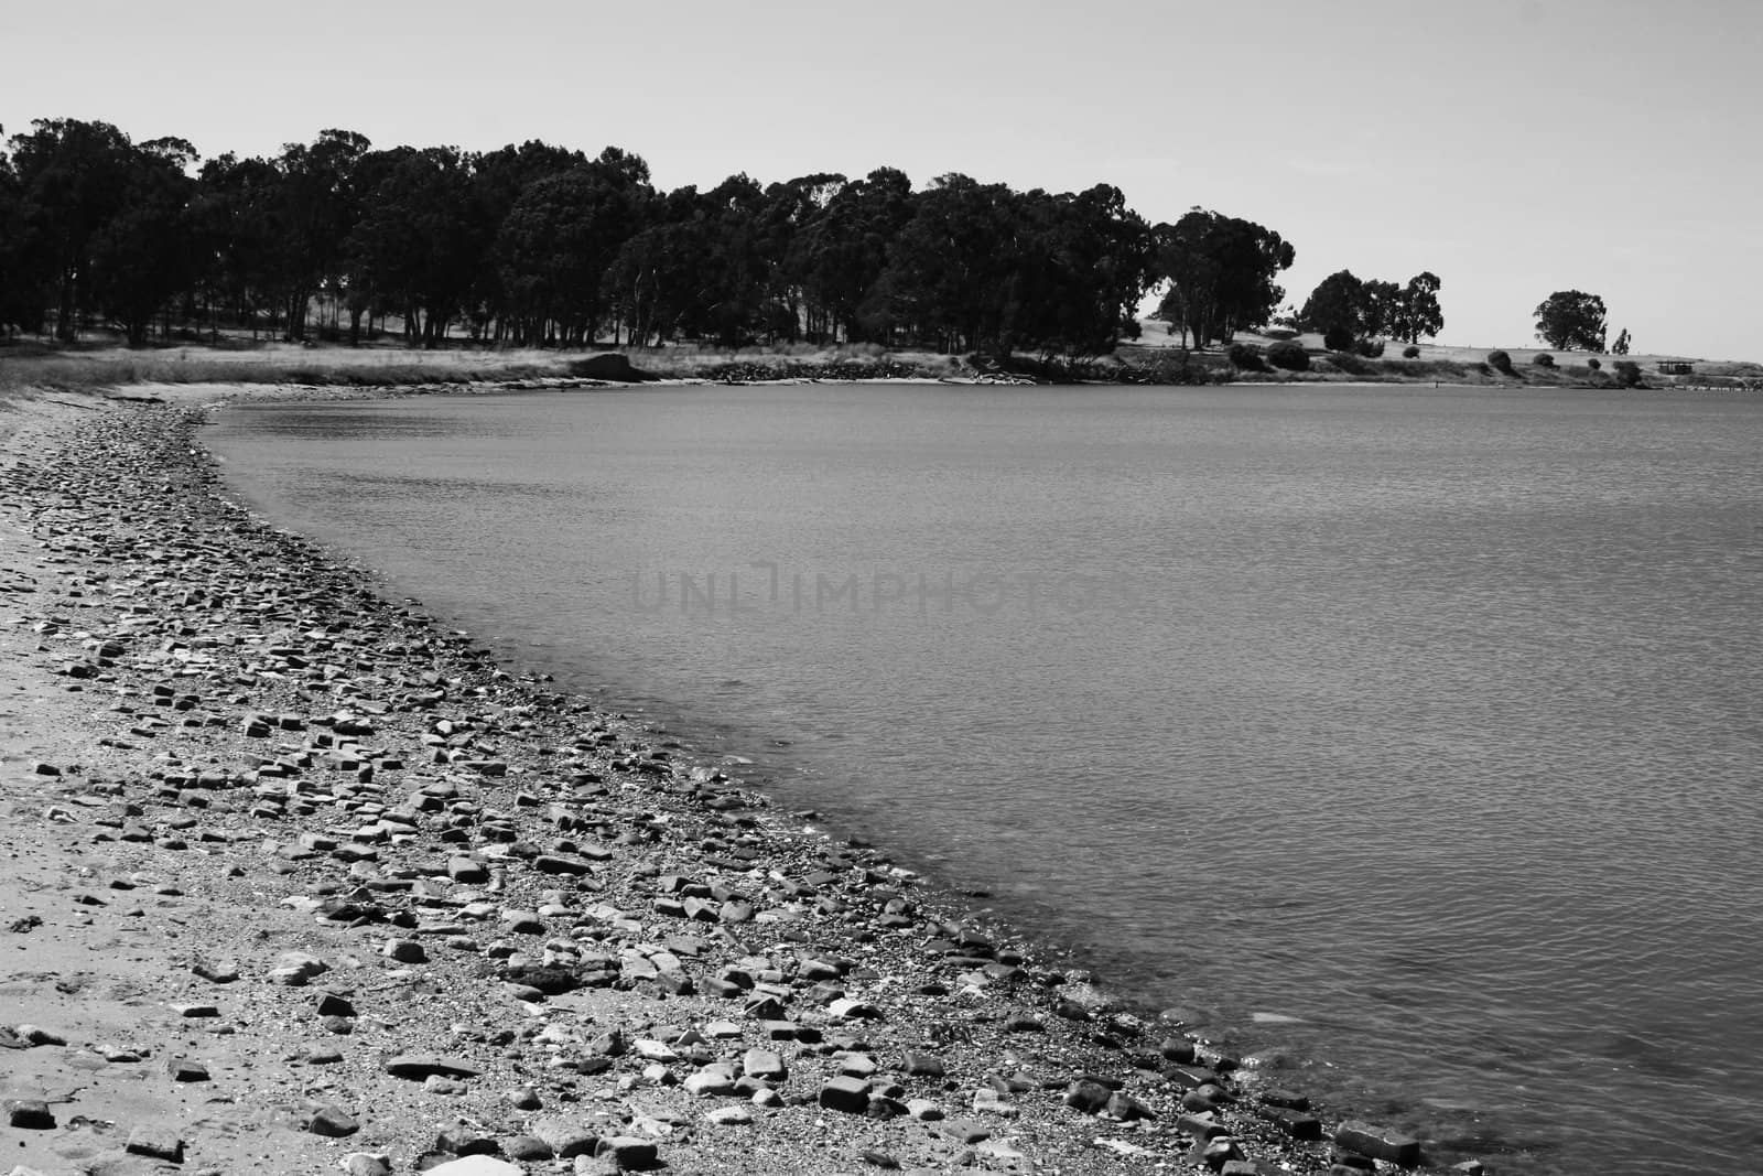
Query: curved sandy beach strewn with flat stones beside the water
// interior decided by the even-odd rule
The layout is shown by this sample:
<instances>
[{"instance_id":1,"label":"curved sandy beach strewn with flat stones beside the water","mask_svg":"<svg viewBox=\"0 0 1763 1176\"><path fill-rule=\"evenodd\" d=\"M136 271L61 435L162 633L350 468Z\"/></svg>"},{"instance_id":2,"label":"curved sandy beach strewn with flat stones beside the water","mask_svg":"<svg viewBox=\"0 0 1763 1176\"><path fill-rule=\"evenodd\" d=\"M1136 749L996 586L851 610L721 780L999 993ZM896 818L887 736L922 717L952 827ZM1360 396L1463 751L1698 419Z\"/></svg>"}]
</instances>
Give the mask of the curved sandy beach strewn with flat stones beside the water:
<instances>
[{"instance_id":1,"label":"curved sandy beach strewn with flat stones beside the water","mask_svg":"<svg viewBox=\"0 0 1763 1176\"><path fill-rule=\"evenodd\" d=\"M14 1172L1423 1162L383 599L196 400L0 406Z\"/></svg>"}]
</instances>

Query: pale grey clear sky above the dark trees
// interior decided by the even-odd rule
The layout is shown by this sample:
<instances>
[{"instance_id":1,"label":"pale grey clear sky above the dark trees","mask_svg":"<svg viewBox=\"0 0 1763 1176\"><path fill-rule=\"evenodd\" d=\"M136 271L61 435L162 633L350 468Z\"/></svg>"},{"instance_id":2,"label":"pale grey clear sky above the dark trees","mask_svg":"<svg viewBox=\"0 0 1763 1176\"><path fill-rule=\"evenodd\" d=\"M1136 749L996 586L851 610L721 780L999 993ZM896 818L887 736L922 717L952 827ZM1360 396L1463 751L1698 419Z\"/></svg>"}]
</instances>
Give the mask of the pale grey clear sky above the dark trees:
<instances>
[{"instance_id":1,"label":"pale grey clear sky above the dark trees","mask_svg":"<svg viewBox=\"0 0 1763 1176\"><path fill-rule=\"evenodd\" d=\"M1442 280L1439 342L1597 294L1638 353L1763 360L1756 0L88 0L0 12L0 127L205 155L330 127L543 139L663 189L899 167L1257 220L1324 277Z\"/></svg>"}]
</instances>

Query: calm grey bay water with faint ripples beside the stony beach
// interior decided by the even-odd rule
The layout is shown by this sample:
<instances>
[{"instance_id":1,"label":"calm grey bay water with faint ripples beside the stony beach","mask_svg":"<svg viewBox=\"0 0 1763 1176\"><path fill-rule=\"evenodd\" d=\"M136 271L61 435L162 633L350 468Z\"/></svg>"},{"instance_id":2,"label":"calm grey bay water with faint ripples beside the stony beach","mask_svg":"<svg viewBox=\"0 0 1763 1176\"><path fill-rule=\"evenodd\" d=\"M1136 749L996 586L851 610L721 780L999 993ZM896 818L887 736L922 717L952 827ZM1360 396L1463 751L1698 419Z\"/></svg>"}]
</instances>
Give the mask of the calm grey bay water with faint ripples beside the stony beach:
<instances>
[{"instance_id":1,"label":"calm grey bay water with faint ripples beside the stony beach","mask_svg":"<svg viewBox=\"0 0 1763 1176\"><path fill-rule=\"evenodd\" d=\"M1758 1169L1763 402L673 388L206 435L1282 1083L1499 1171Z\"/></svg>"}]
</instances>

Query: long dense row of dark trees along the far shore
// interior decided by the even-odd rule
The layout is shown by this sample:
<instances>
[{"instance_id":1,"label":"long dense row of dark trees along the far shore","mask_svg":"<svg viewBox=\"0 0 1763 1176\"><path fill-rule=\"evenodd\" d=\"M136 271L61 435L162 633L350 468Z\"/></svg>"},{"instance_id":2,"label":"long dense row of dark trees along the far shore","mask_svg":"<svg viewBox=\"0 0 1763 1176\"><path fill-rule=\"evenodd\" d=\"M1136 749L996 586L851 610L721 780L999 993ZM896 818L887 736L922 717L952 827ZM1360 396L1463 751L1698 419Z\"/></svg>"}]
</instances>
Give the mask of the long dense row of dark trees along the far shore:
<instances>
[{"instance_id":1,"label":"long dense row of dark trees along the far shore","mask_svg":"<svg viewBox=\"0 0 1763 1176\"><path fill-rule=\"evenodd\" d=\"M1120 189L1019 192L892 167L659 190L617 146L374 148L323 130L273 157L37 120L0 152L0 328L130 344L272 331L413 346L880 342L1088 356L1171 282L1185 337L1227 340L1283 298L1294 250L1194 210L1149 224ZM377 324L377 328L376 328Z\"/></svg>"}]
</instances>

